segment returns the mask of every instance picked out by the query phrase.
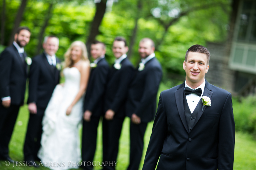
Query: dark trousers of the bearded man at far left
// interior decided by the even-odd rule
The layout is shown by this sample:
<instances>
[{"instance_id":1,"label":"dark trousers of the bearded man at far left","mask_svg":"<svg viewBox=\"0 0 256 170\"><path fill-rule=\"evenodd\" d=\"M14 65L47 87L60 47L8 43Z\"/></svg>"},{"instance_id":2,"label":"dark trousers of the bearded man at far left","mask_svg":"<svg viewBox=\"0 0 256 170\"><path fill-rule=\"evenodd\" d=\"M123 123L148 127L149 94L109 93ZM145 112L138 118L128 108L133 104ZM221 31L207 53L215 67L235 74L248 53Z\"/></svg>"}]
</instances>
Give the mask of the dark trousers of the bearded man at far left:
<instances>
[{"instance_id":1,"label":"dark trousers of the bearded man at far left","mask_svg":"<svg viewBox=\"0 0 256 170\"><path fill-rule=\"evenodd\" d=\"M0 104L0 157L9 157L9 142L11 140L13 128L19 113L19 105L12 105L9 108Z\"/></svg>"}]
</instances>

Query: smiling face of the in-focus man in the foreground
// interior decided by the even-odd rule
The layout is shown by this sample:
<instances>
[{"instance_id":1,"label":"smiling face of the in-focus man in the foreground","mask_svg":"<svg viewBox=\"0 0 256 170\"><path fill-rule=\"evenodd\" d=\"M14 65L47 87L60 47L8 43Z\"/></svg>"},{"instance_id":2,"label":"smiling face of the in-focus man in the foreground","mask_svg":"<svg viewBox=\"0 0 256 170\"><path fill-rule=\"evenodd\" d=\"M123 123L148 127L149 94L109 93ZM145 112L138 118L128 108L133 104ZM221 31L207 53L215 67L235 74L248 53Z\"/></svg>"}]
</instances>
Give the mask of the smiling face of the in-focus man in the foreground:
<instances>
[{"instance_id":1,"label":"smiling face of the in-focus man in the foreground","mask_svg":"<svg viewBox=\"0 0 256 170\"><path fill-rule=\"evenodd\" d=\"M200 86L204 81L204 75L208 72L207 55L198 52L189 52L187 61L183 62L186 71L186 83L192 88Z\"/></svg>"}]
</instances>

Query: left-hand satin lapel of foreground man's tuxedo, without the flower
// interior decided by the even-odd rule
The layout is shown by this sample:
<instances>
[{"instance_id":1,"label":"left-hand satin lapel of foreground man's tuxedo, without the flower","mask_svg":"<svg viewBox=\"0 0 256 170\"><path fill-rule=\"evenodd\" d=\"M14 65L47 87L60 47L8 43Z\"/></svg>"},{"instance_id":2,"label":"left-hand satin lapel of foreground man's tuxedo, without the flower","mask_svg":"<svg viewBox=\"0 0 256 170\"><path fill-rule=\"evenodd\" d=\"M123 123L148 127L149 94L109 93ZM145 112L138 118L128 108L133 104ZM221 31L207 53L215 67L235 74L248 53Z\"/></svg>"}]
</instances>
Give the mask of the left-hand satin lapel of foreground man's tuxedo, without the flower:
<instances>
[{"instance_id":1,"label":"left-hand satin lapel of foreground man's tuxedo, without the flower","mask_svg":"<svg viewBox=\"0 0 256 170\"><path fill-rule=\"evenodd\" d=\"M184 109L184 103L183 103L183 96L184 96L184 87L185 87L185 82L180 85L177 91L175 91L175 100L176 100L176 105L178 108L179 115L181 117L181 121L189 133L188 126L187 126L187 121L185 117L185 109Z\"/></svg>"}]
</instances>

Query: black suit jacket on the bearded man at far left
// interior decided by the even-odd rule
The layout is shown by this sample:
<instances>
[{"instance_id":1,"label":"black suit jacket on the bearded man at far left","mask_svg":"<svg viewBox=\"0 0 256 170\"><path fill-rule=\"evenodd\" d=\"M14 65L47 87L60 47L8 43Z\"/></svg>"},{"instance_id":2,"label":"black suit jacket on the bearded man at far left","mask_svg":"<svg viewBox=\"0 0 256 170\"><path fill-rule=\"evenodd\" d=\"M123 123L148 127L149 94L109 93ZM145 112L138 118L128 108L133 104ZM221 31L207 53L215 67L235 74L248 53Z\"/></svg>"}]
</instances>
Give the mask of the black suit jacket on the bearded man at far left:
<instances>
[{"instance_id":1,"label":"black suit jacket on the bearded man at far left","mask_svg":"<svg viewBox=\"0 0 256 170\"><path fill-rule=\"evenodd\" d=\"M26 57L26 53L24 52ZM12 44L0 54L0 98L11 97L11 104L24 103L27 80L27 63L23 63Z\"/></svg>"}]
</instances>

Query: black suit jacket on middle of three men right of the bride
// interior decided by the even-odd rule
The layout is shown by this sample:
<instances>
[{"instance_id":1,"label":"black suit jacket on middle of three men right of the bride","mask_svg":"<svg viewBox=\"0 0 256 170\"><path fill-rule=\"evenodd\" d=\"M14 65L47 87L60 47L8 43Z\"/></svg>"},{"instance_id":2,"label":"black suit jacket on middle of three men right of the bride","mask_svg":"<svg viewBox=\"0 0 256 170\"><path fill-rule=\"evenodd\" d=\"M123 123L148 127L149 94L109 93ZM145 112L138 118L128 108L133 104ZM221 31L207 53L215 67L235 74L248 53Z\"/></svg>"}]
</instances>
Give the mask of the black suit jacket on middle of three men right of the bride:
<instances>
[{"instance_id":1,"label":"black suit jacket on middle of three men right of the bride","mask_svg":"<svg viewBox=\"0 0 256 170\"><path fill-rule=\"evenodd\" d=\"M108 75L108 83L105 96L105 109L112 109L115 117L125 117L125 103L127 99L128 87L131 83L134 68L126 57L121 63L122 67L117 70L111 67Z\"/></svg>"}]
</instances>

